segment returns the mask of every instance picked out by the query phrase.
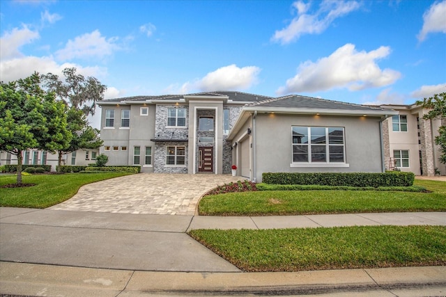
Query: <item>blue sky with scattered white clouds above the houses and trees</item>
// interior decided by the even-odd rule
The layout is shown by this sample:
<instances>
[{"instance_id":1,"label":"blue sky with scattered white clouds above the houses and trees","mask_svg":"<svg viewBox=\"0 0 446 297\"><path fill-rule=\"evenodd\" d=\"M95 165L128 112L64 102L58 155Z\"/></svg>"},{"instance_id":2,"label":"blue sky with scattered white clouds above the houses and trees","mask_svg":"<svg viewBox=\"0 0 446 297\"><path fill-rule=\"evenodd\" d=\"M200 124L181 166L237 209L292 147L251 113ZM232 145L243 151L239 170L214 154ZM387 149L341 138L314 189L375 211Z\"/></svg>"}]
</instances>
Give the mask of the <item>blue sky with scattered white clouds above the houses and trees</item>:
<instances>
[{"instance_id":1,"label":"blue sky with scattered white clouds above the houses and trees","mask_svg":"<svg viewBox=\"0 0 446 297\"><path fill-rule=\"evenodd\" d=\"M0 1L0 77L106 98L207 90L411 104L446 92L443 1Z\"/></svg>"}]
</instances>

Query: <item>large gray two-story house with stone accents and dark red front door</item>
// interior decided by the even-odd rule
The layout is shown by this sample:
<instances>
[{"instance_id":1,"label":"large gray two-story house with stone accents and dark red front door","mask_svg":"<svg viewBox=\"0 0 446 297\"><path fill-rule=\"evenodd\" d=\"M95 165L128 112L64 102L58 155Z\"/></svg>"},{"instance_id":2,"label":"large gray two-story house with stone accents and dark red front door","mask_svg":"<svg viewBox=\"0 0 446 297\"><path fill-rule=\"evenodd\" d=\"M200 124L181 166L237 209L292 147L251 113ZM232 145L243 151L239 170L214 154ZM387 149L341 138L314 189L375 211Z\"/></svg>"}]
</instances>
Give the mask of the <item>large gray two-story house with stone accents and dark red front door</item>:
<instances>
[{"instance_id":1,"label":"large gray two-story house with stone accents and dark red front door","mask_svg":"<svg viewBox=\"0 0 446 297\"><path fill-rule=\"evenodd\" d=\"M217 91L126 97L102 108L100 153L142 172L383 172L383 122L398 111Z\"/></svg>"}]
</instances>

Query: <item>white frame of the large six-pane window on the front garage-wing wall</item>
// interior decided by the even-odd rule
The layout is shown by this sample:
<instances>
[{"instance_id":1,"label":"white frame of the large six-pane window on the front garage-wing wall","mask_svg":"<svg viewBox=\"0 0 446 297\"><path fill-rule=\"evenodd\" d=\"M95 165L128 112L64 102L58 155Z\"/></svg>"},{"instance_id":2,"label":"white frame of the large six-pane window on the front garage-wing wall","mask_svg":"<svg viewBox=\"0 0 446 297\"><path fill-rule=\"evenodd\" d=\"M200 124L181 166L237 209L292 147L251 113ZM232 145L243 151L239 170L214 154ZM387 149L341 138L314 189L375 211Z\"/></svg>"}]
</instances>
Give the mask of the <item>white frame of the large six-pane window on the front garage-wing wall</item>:
<instances>
[{"instance_id":1,"label":"white frame of the large six-pane window on the front garage-wing wall","mask_svg":"<svg viewBox=\"0 0 446 297\"><path fill-rule=\"evenodd\" d=\"M299 127L307 129L308 141L307 143L293 143L293 128ZM323 128L325 129L325 143L317 146L325 146L325 161L312 161L312 146L316 144L312 143L312 128ZM342 129L342 144L330 143L329 129ZM308 147L307 150L307 161L294 161L293 148L295 145L305 145ZM343 147L342 154L344 156L344 161L342 162L330 162L330 146ZM346 163L346 137L345 137L345 127L317 127L317 126L292 126L291 127L291 164L290 167L350 167L350 164Z\"/></svg>"}]
</instances>

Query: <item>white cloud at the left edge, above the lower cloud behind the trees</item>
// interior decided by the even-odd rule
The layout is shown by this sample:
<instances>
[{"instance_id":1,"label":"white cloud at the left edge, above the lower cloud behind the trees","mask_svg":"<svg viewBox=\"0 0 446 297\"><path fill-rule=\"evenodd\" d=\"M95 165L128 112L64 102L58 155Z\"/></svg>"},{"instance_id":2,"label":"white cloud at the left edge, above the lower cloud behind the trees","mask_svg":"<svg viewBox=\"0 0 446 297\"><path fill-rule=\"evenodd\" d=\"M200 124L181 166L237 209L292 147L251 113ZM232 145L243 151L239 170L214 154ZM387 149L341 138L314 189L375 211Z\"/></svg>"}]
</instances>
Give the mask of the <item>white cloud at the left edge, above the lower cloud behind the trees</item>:
<instances>
[{"instance_id":1,"label":"white cloud at the left edge, above the lower cloud behind the trees","mask_svg":"<svg viewBox=\"0 0 446 297\"><path fill-rule=\"evenodd\" d=\"M14 28L12 31L4 33L0 38L1 60L23 56L20 47L38 38L40 38L38 31L32 31L26 25L22 25L21 29Z\"/></svg>"}]
</instances>

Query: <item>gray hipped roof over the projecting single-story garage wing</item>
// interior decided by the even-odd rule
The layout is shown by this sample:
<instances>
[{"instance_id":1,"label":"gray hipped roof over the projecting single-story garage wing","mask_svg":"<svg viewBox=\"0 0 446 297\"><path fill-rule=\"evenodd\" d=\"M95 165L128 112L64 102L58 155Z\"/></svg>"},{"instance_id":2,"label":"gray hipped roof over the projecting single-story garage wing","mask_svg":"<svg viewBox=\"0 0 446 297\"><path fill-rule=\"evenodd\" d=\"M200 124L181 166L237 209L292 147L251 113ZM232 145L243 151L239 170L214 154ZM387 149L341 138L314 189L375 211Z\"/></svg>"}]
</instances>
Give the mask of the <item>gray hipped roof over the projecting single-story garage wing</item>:
<instances>
[{"instance_id":1,"label":"gray hipped roof over the projecting single-story garage wing","mask_svg":"<svg viewBox=\"0 0 446 297\"><path fill-rule=\"evenodd\" d=\"M266 99L247 104L257 108L281 108L281 109L311 109L311 110L343 110L343 111L382 111L379 107L365 106L346 102L332 101L314 97L288 95L284 97Z\"/></svg>"}]
</instances>

